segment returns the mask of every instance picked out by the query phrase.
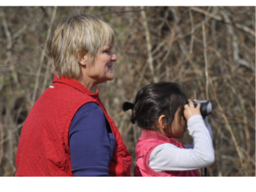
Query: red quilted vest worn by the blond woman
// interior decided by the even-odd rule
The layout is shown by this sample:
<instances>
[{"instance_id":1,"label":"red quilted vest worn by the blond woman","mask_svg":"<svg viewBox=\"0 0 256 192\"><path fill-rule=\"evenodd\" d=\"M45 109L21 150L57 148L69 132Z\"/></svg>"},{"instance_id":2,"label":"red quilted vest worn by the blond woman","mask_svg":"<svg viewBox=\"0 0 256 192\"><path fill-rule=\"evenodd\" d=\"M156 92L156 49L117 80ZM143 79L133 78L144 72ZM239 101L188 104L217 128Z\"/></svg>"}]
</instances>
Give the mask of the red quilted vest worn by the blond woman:
<instances>
[{"instance_id":1,"label":"red quilted vest worn by the blond woman","mask_svg":"<svg viewBox=\"0 0 256 192\"><path fill-rule=\"evenodd\" d=\"M16 155L15 176L73 176L68 132L76 111L94 102L102 109L116 139L109 176L130 176L131 155L113 120L95 94L73 79L54 76L24 122Z\"/></svg>"}]
</instances>

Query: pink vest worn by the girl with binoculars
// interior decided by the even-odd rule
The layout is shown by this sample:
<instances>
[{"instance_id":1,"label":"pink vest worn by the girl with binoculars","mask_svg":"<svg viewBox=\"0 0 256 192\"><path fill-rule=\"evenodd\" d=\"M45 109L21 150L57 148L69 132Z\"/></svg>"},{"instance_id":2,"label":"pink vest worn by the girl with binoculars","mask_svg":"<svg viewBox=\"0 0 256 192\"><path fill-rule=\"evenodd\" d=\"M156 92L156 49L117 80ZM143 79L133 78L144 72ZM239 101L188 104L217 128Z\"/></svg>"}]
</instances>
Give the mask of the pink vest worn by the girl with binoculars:
<instances>
[{"instance_id":1,"label":"pink vest worn by the girl with binoculars","mask_svg":"<svg viewBox=\"0 0 256 192\"><path fill-rule=\"evenodd\" d=\"M166 171L156 172L151 169L149 156L157 145L171 143L179 148L185 148L180 142L173 138L165 137L155 131L142 130L141 137L135 148L136 163L134 167L135 177L198 177L198 170L190 171Z\"/></svg>"}]
</instances>

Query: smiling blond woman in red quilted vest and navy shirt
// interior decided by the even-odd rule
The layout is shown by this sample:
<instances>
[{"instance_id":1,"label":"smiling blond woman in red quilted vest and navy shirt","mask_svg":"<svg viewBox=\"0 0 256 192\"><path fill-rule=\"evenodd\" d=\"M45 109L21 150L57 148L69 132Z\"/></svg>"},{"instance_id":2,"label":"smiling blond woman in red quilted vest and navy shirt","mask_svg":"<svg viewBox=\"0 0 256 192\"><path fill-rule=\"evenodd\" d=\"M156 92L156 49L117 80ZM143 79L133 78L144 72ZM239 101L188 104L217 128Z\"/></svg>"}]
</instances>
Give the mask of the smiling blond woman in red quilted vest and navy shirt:
<instances>
[{"instance_id":1,"label":"smiling blond woman in red quilted vest and navy shirt","mask_svg":"<svg viewBox=\"0 0 256 192\"><path fill-rule=\"evenodd\" d=\"M24 122L15 176L130 176L131 155L99 92L113 79L114 32L92 15L64 17L48 40L53 83Z\"/></svg>"}]
</instances>

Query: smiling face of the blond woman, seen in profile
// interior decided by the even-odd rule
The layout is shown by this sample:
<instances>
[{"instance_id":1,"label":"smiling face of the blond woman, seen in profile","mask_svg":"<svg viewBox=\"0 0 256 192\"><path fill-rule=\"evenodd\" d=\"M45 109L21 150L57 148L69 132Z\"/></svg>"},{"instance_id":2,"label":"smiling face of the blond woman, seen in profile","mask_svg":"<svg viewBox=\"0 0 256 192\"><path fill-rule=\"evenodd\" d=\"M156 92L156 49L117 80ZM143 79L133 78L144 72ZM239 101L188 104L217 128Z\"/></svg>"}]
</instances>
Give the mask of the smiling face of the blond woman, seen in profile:
<instances>
[{"instance_id":1,"label":"smiling face of the blond woman, seen in profile","mask_svg":"<svg viewBox=\"0 0 256 192\"><path fill-rule=\"evenodd\" d=\"M111 44L104 45L102 51L95 56L94 65L89 68L87 74L93 79L95 85L114 78L112 66L117 58L111 51L111 47Z\"/></svg>"}]
</instances>

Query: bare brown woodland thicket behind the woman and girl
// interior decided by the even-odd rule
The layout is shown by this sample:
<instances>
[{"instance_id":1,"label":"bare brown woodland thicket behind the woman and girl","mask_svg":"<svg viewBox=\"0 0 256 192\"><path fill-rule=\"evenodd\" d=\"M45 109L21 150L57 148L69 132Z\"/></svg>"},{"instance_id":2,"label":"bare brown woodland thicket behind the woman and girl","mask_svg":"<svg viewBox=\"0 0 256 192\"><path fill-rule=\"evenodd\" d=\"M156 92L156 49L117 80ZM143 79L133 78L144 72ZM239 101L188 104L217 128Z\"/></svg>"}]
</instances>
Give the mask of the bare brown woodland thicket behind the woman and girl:
<instances>
[{"instance_id":1,"label":"bare brown woodland thicket behind the woman and girl","mask_svg":"<svg viewBox=\"0 0 256 192\"><path fill-rule=\"evenodd\" d=\"M255 176L255 7L144 8L0 7L0 176L15 174L23 122L52 83L44 42L74 12L102 14L115 31L115 78L98 88L131 152L132 176L141 130L122 103L158 81L179 82L189 98L212 102L208 176Z\"/></svg>"}]
</instances>

